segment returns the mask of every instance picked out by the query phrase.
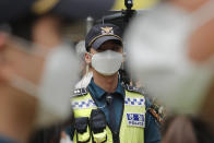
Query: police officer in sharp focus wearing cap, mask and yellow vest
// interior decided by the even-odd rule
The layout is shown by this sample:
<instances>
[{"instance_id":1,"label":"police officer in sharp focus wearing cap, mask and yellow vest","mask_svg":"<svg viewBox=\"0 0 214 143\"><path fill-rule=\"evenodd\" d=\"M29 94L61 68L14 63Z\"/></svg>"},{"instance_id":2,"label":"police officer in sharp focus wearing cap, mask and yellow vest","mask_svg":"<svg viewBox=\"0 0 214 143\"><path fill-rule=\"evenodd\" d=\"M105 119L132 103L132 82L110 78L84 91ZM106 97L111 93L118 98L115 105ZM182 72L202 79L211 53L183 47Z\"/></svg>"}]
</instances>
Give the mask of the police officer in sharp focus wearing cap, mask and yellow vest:
<instances>
[{"instance_id":1,"label":"police officer in sharp focus wearing cap, mask and yellow vest","mask_svg":"<svg viewBox=\"0 0 214 143\"><path fill-rule=\"evenodd\" d=\"M160 140L150 102L139 88L122 85L118 70L123 62L121 31L97 24L85 38L85 60L93 79L87 88L74 91L74 142L156 143Z\"/></svg>"}]
</instances>

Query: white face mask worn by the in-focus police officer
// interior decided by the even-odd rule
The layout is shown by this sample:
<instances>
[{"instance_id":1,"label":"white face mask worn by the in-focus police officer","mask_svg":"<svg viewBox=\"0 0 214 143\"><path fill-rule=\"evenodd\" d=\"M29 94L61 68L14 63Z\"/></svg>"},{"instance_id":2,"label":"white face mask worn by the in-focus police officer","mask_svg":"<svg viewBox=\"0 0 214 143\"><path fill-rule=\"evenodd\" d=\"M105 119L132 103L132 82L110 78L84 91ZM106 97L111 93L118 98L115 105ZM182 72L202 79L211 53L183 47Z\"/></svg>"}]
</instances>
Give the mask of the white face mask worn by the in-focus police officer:
<instances>
[{"instance_id":1,"label":"white face mask worn by the in-focus police officer","mask_svg":"<svg viewBox=\"0 0 214 143\"><path fill-rule=\"evenodd\" d=\"M122 60L122 53L105 50L93 55L92 67L103 75L112 75L120 69Z\"/></svg>"}]
</instances>

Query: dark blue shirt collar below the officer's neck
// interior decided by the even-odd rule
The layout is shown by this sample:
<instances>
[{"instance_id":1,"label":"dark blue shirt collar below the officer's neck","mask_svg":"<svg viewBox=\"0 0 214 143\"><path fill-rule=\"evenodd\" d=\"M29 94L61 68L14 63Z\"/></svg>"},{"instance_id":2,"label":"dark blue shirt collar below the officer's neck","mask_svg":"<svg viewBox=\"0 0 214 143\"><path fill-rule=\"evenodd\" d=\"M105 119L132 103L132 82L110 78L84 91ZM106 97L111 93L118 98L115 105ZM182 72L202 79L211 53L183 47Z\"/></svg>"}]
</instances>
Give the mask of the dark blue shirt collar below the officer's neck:
<instances>
[{"instance_id":1,"label":"dark blue shirt collar below the officer's neck","mask_svg":"<svg viewBox=\"0 0 214 143\"><path fill-rule=\"evenodd\" d=\"M88 88L90 91L95 93L94 95L97 97L97 99L100 99L106 93L102 87L99 87L98 85L94 83L94 79L91 80ZM114 95L120 94L124 98L124 88L122 87L120 80L118 80L118 86L112 94Z\"/></svg>"}]
</instances>

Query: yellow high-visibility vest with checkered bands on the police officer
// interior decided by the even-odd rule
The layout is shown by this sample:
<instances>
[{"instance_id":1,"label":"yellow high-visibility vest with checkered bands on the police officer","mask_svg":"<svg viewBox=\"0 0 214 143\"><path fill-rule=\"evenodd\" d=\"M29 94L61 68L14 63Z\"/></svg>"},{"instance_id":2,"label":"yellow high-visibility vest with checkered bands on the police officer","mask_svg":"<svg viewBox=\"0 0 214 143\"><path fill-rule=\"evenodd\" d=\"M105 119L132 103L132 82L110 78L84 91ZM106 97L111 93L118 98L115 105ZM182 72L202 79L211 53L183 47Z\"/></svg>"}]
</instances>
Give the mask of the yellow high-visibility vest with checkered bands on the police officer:
<instances>
[{"instance_id":1,"label":"yellow high-visibility vest with checkered bands on the police officer","mask_svg":"<svg viewBox=\"0 0 214 143\"><path fill-rule=\"evenodd\" d=\"M144 143L146 111L143 95L126 91L123 115L119 132L112 132L109 126L106 126L98 133L94 133L91 130L91 112L93 109L97 109L97 106L90 93L72 97L71 104L75 118L74 143Z\"/></svg>"}]
</instances>

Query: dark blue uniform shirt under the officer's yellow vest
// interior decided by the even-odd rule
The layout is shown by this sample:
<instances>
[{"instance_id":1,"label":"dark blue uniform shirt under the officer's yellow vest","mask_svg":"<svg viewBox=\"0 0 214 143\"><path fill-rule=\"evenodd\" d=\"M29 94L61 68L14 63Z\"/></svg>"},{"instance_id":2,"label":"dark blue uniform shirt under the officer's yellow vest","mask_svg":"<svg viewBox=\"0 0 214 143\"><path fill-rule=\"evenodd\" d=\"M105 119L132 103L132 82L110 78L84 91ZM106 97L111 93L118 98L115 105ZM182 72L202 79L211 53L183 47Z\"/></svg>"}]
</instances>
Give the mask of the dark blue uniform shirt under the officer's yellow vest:
<instances>
[{"instance_id":1,"label":"dark blue uniform shirt under the officer's yellow vest","mask_svg":"<svg viewBox=\"0 0 214 143\"><path fill-rule=\"evenodd\" d=\"M122 104L124 100L124 88L122 87L121 83L118 82L118 86L116 88L116 91L114 93L114 107L115 108L115 112L117 112L115 115L116 117L116 130L118 131L120 128L120 120L121 120L121 114L122 114ZM96 85L94 83L94 80L91 80L91 83L88 84L88 90L90 93L93 97L93 99L95 100L96 105L104 111L105 116L106 116L106 120L109 123L109 112L108 109L106 107L106 98L104 97L105 95L105 91L103 88L100 88L98 85ZM151 106L150 100L146 98L146 103L145 103L145 107L146 109ZM74 133L73 129L72 129L72 134ZM144 143L159 143L160 142L160 132L159 132L159 127L158 123L156 121L156 119L151 115L151 112L146 112L145 114L145 130L144 130L144 138L145 138L145 142Z\"/></svg>"}]
</instances>

